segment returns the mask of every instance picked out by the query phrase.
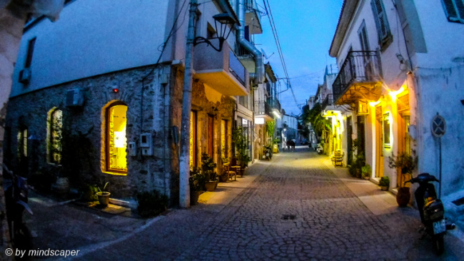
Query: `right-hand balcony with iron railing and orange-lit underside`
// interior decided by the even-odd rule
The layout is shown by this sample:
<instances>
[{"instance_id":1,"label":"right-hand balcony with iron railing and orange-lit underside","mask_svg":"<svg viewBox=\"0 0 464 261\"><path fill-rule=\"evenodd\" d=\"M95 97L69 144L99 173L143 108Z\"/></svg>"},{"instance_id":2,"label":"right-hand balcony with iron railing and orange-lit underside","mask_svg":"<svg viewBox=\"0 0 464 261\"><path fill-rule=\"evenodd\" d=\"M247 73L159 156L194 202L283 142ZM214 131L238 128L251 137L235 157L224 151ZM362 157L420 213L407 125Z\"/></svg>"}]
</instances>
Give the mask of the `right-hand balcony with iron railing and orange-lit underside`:
<instances>
[{"instance_id":1,"label":"right-hand balcony with iron railing and orange-lit underside","mask_svg":"<svg viewBox=\"0 0 464 261\"><path fill-rule=\"evenodd\" d=\"M335 104L377 101L382 94L382 69L375 51L350 51L333 82Z\"/></svg>"}]
</instances>

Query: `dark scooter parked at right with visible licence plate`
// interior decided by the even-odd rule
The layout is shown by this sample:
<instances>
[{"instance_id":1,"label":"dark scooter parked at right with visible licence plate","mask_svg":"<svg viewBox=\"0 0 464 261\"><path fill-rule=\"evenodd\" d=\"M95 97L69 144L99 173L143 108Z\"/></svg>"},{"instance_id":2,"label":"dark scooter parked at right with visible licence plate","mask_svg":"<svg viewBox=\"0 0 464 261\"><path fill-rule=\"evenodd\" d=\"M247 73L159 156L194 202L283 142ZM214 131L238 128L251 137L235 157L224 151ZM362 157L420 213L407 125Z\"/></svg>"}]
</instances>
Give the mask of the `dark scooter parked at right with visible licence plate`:
<instances>
[{"instance_id":1,"label":"dark scooter parked at right with visible licence plate","mask_svg":"<svg viewBox=\"0 0 464 261\"><path fill-rule=\"evenodd\" d=\"M417 178L411 178L405 183L419 183L419 187L415 190L415 201L418 204L420 213L420 221L424 227L420 231L425 235L430 235L434 241L435 250L438 255L443 253L445 245L443 236L446 230L453 230L455 224L447 224L445 220L445 208L443 203L437 197L435 186L431 182L440 182L435 176L429 173L422 173Z\"/></svg>"}]
</instances>

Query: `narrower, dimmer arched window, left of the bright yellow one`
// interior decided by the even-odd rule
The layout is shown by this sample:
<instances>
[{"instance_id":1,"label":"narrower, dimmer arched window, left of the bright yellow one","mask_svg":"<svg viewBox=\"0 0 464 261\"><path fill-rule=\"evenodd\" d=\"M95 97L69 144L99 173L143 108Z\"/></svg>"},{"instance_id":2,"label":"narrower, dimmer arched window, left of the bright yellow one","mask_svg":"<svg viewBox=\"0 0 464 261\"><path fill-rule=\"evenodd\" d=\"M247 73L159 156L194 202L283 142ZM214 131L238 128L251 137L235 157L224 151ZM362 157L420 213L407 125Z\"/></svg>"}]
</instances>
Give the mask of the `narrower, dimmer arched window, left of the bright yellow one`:
<instances>
[{"instance_id":1,"label":"narrower, dimmer arched window, left of the bright yellow one","mask_svg":"<svg viewBox=\"0 0 464 261\"><path fill-rule=\"evenodd\" d=\"M49 163L61 164L61 149L63 140L63 112L58 108L49 111L49 143L47 144L47 155Z\"/></svg>"}]
</instances>

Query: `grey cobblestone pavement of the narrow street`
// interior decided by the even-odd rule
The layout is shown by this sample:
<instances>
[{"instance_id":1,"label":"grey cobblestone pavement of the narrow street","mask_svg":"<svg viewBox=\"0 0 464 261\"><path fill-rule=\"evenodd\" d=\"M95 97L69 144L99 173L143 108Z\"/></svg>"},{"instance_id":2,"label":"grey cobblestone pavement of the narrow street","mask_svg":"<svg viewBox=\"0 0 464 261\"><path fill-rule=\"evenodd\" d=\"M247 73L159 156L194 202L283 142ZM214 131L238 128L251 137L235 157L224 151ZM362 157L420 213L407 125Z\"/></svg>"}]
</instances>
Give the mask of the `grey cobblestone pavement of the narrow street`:
<instances>
[{"instance_id":1,"label":"grey cobblestone pavement of the narrow street","mask_svg":"<svg viewBox=\"0 0 464 261\"><path fill-rule=\"evenodd\" d=\"M326 159L303 147L279 153L253 165L256 179L227 204L172 210L119 240L82 246L79 259L464 260L453 235L440 258L419 239L417 210L374 215Z\"/></svg>"}]
</instances>

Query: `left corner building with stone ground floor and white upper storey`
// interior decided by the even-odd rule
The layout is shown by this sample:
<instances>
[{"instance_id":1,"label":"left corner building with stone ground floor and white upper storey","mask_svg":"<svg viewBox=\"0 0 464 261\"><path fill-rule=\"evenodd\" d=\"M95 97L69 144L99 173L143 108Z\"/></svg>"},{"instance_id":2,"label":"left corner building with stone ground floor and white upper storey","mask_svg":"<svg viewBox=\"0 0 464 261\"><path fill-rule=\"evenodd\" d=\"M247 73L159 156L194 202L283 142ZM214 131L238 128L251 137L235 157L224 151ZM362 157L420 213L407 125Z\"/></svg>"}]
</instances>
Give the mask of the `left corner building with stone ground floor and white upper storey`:
<instances>
[{"instance_id":1,"label":"left corner building with stone ground floor and white upper storey","mask_svg":"<svg viewBox=\"0 0 464 261\"><path fill-rule=\"evenodd\" d=\"M14 168L44 188L59 177L74 188L109 182L114 198L155 189L176 205L188 8L178 1L74 0L54 24L31 19L6 118L5 155ZM238 50L254 8L254 1L198 6L196 36L217 36L213 16L221 13L240 29L231 28L222 51L194 48L191 167L208 153L221 172L221 158L233 156L232 129L244 119L253 151L250 85L263 86L264 66L259 52ZM246 110L251 117L244 118Z\"/></svg>"}]
</instances>

